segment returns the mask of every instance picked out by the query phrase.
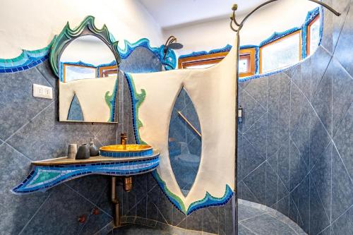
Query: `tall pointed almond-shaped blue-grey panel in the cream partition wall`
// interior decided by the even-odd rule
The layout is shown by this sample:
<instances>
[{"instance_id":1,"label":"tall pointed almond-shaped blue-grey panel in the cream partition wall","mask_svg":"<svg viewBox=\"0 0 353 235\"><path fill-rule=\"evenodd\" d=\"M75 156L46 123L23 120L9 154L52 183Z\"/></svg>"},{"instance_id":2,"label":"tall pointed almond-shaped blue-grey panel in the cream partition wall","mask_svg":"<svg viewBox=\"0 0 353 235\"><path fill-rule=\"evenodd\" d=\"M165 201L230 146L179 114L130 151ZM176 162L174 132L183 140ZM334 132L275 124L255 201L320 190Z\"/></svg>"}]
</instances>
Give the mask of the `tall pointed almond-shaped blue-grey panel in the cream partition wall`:
<instances>
[{"instance_id":1,"label":"tall pointed almond-shaped blue-grey panel in the cream partition wall","mask_svg":"<svg viewBox=\"0 0 353 235\"><path fill-rule=\"evenodd\" d=\"M169 159L181 192L188 195L201 160L201 128L186 90L177 97L169 124Z\"/></svg>"}]
</instances>

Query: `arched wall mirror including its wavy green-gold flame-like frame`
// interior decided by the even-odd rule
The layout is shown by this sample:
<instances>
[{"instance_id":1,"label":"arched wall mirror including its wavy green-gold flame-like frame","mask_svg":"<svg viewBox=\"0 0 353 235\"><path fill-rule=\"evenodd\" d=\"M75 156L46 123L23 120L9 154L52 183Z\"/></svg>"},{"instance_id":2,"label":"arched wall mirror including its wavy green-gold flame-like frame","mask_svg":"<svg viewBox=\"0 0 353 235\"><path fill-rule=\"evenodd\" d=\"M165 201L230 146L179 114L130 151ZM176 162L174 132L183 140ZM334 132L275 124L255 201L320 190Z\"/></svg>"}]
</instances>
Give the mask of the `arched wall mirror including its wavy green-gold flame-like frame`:
<instances>
[{"instance_id":1,"label":"arched wall mirror including its wavy green-gold flame-like frame","mask_svg":"<svg viewBox=\"0 0 353 235\"><path fill-rule=\"evenodd\" d=\"M59 78L59 121L117 122L118 42L93 16L67 23L52 44L49 61Z\"/></svg>"}]
</instances>

